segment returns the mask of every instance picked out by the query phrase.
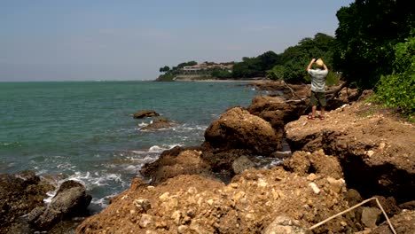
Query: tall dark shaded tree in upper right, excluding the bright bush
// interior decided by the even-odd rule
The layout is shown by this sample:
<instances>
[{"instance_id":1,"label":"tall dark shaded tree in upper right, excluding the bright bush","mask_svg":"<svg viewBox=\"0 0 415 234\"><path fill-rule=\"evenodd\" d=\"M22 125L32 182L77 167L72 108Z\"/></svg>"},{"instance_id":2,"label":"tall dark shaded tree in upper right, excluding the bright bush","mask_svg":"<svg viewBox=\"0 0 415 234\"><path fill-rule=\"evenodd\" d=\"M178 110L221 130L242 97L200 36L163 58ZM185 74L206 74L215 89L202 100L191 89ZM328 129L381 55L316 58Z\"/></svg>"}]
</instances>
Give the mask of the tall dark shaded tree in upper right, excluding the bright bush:
<instances>
[{"instance_id":1,"label":"tall dark shaded tree in upper right, excluding the bright bush","mask_svg":"<svg viewBox=\"0 0 415 234\"><path fill-rule=\"evenodd\" d=\"M356 0L336 14L334 66L361 89L372 89L381 75L392 73L394 45L415 27L408 0Z\"/></svg>"}]
</instances>

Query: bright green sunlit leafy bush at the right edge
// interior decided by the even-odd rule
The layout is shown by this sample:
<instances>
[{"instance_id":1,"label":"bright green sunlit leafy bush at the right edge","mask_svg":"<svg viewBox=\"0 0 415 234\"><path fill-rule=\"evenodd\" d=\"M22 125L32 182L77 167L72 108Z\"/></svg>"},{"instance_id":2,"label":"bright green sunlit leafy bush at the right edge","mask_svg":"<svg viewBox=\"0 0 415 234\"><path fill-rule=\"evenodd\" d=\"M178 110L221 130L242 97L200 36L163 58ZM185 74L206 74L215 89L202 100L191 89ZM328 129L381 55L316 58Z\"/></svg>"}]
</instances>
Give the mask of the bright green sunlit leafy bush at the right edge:
<instances>
[{"instance_id":1,"label":"bright green sunlit leafy bush at the right edge","mask_svg":"<svg viewBox=\"0 0 415 234\"><path fill-rule=\"evenodd\" d=\"M376 85L376 98L403 113L415 113L415 30L405 43L395 45L393 73L382 75Z\"/></svg>"}]
</instances>

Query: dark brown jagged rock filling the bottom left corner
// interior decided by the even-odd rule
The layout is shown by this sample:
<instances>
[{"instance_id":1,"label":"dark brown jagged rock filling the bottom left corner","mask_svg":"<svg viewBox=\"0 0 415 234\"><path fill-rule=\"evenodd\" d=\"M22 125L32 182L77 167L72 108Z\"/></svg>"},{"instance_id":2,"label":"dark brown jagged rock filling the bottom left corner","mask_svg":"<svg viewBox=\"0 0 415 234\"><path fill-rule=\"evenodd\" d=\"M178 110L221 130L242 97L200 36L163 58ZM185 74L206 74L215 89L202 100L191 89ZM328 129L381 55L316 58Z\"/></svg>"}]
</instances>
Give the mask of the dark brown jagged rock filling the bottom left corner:
<instances>
[{"instance_id":1,"label":"dark brown jagged rock filling the bottom left corner","mask_svg":"<svg viewBox=\"0 0 415 234\"><path fill-rule=\"evenodd\" d=\"M0 175L0 233L8 232L21 215L43 207L46 192L53 190L51 184L43 182L33 171Z\"/></svg>"}]
</instances>

